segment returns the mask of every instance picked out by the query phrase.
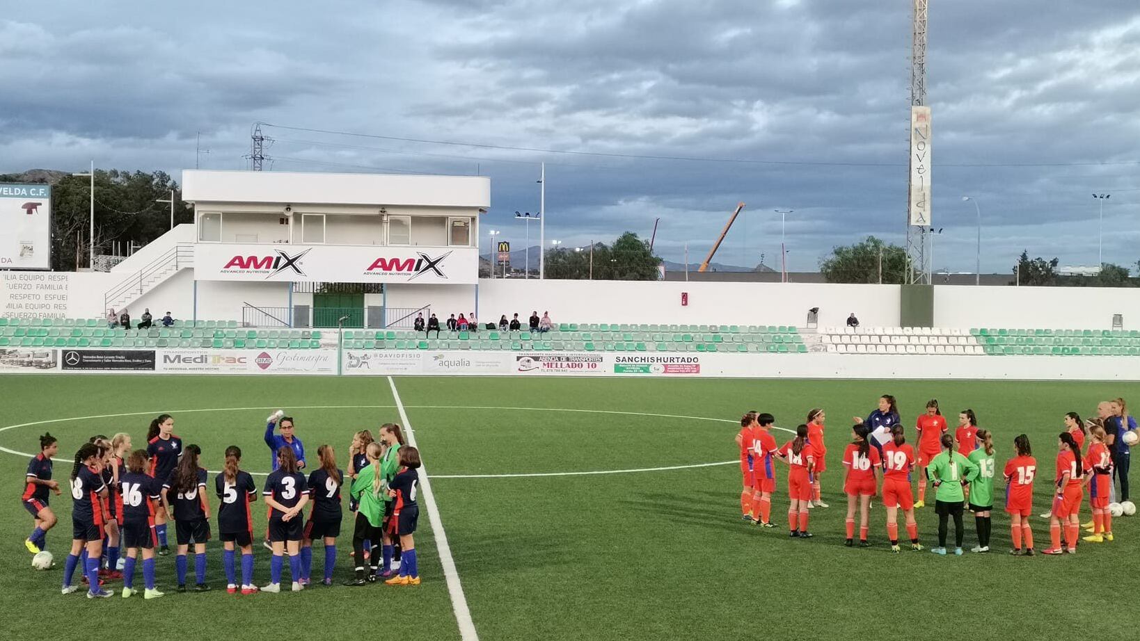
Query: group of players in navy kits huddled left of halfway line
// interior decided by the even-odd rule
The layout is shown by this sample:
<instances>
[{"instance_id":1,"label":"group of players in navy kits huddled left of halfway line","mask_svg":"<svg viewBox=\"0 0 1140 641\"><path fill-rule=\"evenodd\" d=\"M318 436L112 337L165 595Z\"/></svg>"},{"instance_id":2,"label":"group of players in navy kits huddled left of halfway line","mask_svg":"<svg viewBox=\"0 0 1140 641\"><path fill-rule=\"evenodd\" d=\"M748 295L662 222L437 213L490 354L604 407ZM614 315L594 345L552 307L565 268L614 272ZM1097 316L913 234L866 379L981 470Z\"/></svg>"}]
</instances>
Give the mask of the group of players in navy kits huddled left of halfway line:
<instances>
[{"instance_id":1,"label":"group of players in navy kits huddled left of halfway line","mask_svg":"<svg viewBox=\"0 0 1140 641\"><path fill-rule=\"evenodd\" d=\"M73 583L76 567L88 585L89 599L112 597L104 587L123 582L122 595L145 599L163 595L156 587L156 556L170 554L166 527L174 523L176 577L179 592L187 591L190 547L194 547L194 585L205 592L206 542L211 535L207 471L201 467L202 449L182 445L174 435L174 419L162 414L150 422L146 449L132 449L125 433L108 438L93 436L75 452L68 486L72 495L72 543L64 565L63 593L79 590ZM366 585L381 578L389 585L418 585L414 533L418 519L420 452L405 444L400 426L383 425L374 441L369 430L358 432L349 446L348 474L336 463L332 445L317 447L319 467L306 476L304 445L294 434L294 421L278 410L266 425L266 444L272 451L272 472L261 494L267 504L268 527L263 544L271 550L269 583L253 582L252 503L258 500L253 476L243 470L242 450L225 451L222 471L214 477L218 496L217 526L222 543L227 592L253 594L280 592L285 557L292 590L309 585L312 547L325 551L324 585L332 585L340 536L341 490L348 487L349 509L355 515L352 556L355 576L345 585ZM279 432L279 434L278 434ZM33 517L25 547L35 554L33 565L51 567L47 533L57 518L49 506L51 493L60 495L52 479L56 437L40 437L40 453L28 462L24 508ZM304 510L309 508L308 520ZM123 558L120 560L120 553ZM241 577L237 556L241 554ZM144 590L135 587L135 570L142 559ZM121 572L117 568L122 568Z\"/></svg>"}]
</instances>

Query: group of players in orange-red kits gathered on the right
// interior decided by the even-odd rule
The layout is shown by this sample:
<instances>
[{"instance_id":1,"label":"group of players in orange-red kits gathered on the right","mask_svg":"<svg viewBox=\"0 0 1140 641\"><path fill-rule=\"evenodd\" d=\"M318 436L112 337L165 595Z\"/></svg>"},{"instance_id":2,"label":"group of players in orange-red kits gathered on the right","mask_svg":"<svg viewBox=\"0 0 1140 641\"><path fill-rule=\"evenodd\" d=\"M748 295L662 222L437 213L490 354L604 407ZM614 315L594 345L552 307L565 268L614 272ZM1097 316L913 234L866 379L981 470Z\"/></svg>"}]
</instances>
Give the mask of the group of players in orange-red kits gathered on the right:
<instances>
[{"instance_id":1,"label":"group of players in orange-red kits gathered on the right","mask_svg":"<svg viewBox=\"0 0 1140 641\"><path fill-rule=\"evenodd\" d=\"M1054 495L1052 508L1041 515L1050 519L1050 547L1045 554L1076 553L1081 528L1089 533L1083 541L1113 541L1113 516L1133 513L1129 499L1129 447L1137 444L1137 422L1127 414L1123 398L1105 401L1097 408L1098 418L1082 421L1076 412L1065 416L1065 432L1058 435ZM826 472L828 449L824 441L826 414L822 409L807 413L807 422L796 428L796 436L783 445L776 444L771 430L775 418L771 413L750 411L740 420L736 444L743 490L740 507L743 520L773 528L772 495L776 491L774 461L788 466L788 526L790 535L811 539L809 510L828 508L821 501L821 477ZM870 547L869 512L871 501L880 496L887 512L887 536L891 552L902 551L898 537L898 512L903 512L911 550L919 551L917 508L926 506L927 487L934 488L935 513L938 516L938 545L931 552L945 556L950 521L954 523L954 554L962 554L964 531L962 517L969 509L975 517L977 545L972 552L988 552L991 515L994 507L995 463L994 435L980 429L972 410L959 414L959 426L948 433L938 401L931 400L926 412L915 421L917 449L906 442L899 422L895 397L885 395L879 406L866 418L854 417L850 442L842 454L844 493L847 495L846 541L855 545L855 518L858 516L858 545ZM1089 442L1088 451L1084 450ZM1028 436L1012 439L1015 455L1001 469L1004 482L1004 510L1010 515L1011 554L1033 556L1033 483L1037 461ZM915 469L918 468L918 469ZM912 476L919 471L918 498ZM1121 501L1115 502L1114 477L1121 485ZM1081 506L1085 499L1092 519L1081 524Z\"/></svg>"}]
</instances>

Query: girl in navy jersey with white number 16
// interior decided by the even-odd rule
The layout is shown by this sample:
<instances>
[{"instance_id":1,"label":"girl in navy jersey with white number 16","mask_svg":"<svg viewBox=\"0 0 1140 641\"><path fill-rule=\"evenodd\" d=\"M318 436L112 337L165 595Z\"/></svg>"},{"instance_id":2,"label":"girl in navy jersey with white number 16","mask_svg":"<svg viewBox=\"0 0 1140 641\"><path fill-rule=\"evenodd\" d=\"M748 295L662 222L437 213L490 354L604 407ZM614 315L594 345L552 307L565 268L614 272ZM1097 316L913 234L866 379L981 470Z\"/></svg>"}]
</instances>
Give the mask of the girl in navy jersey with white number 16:
<instances>
[{"instance_id":1,"label":"girl in navy jersey with white number 16","mask_svg":"<svg viewBox=\"0 0 1140 641\"><path fill-rule=\"evenodd\" d=\"M138 593L135 590L135 564L139 550L142 551L142 580L146 599L157 599L163 593L154 585L154 516L158 511L155 503L161 501L162 484L146 472L146 450L135 450L127 458L125 471L119 475L122 503L119 516L122 519L123 548L127 560L123 565L123 598ZM161 509L161 507L158 508Z\"/></svg>"}]
</instances>

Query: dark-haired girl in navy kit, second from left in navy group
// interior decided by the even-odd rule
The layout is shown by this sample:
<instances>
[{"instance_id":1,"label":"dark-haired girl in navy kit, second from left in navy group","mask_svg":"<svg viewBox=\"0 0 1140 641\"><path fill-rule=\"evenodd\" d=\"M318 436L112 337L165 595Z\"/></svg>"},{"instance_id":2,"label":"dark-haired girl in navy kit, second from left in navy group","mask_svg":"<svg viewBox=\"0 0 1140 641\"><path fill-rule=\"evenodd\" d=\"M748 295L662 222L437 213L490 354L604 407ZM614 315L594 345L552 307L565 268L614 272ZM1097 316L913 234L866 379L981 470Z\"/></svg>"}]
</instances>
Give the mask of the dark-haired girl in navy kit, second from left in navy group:
<instances>
[{"instance_id":1,"label":"dark-haired girl in navy kit, second from left in navy group","mask_svg":"<svg viewBox=\"0 0 1140 641\"><path fill-rule=\"evenodd\" d=\"M72 585L72 576L83 554L83 572L90 590L88 599L113 595L109 590L99 585L99 557L103 556L103 525L106 515L103 511L103 500L107 496L107 486L103 483L99 470L99 446L85 443L75 452L75 463L71 474L72 492L72 548L64 566L63 593L71 594L76 590Z\"/></svg>"}]
</instances>

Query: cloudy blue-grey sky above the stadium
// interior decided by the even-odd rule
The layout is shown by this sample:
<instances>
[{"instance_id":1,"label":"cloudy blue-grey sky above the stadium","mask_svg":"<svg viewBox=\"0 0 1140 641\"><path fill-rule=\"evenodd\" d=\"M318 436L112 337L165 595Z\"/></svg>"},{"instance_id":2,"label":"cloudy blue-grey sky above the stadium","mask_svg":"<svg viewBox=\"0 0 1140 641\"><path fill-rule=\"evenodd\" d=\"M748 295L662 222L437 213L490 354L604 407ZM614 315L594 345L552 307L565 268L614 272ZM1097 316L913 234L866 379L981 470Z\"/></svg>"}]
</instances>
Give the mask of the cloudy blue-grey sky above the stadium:
<instances>
[{"instance_id":1,"label":"cloudy blue-grey sky above the stadium","mask_svg":"<svg viewBox=\"0 0 1140 641\"><path fill-rule=\"evenodd\" d=\"M1140 5L933 0L934 268L1140 260ZM114 7L109 9L108 7ZM903 243L909 0L57 0L0 19L0 172L481 173L516 247L649 236L793 271ZM318 130L318 131L315 131ZM344 133L337 133L344 132ZM352 135L357 134L357 135ZM367 135L359 135L367 134ZM416 139L409 141L399 139ZM469 145L447 145L447 141ZM486 223L489 223L486 224ZM532 243L537 228L531 227Z\"/></svg>"}]
</instances>

